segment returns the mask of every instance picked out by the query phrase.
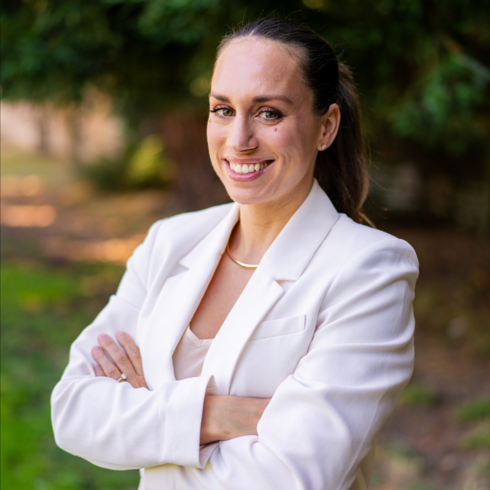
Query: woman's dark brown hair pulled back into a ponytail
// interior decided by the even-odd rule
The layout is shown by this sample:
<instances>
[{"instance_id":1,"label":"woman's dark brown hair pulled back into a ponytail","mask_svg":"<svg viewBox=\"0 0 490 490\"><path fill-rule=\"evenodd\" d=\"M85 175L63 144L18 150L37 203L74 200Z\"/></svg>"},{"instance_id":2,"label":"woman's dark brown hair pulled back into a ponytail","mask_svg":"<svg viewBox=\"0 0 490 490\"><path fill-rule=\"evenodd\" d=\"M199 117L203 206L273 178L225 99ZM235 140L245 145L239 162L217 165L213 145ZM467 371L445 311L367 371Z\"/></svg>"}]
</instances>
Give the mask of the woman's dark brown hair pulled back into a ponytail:
<instances>
[{"instance_id":1,"label":"woman's dark brown hair pulled back into a ponytail","mask_svg":"<svg viewBox=\"0 0 490 490\"><path fill-rule=\"evenodd\" d=\"M265 38L295 46L300 51L303 80L313 91L313 111L323 115L331 104L340 108L337 137L325 151L319 151L315 177L333 205L356 221L365 219L361 208L369 187L367 156L361 129L361 111L356 85L346 65L321 36L287 19L271 18L250 22L225 36L216 57L231 41Z\"/></svg>"}]
</instances>

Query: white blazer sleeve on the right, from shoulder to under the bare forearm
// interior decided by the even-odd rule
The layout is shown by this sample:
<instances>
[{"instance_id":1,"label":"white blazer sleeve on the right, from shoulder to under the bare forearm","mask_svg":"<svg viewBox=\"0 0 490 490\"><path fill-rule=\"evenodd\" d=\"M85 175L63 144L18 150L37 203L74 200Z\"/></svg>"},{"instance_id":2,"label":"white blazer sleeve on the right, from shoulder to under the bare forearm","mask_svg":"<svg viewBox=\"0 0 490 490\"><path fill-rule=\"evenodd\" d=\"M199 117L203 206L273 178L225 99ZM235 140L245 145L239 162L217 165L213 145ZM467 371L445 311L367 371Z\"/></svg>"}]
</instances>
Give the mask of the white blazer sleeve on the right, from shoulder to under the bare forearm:
<instances>
[{"instance_id":1,"label":"white blazer sleeve on the right, from shoulder to under the bare forearm","mask_svg":"<svg viewBox=\"0 0 490 490\"><path fill-rule=\"evenodd\" d=\"M351 257L323 298L307 354L278 387L257 436L222 441L204 488L347 490L413 368L413 249L381 239Z\"/></svg>"}]
</instances>

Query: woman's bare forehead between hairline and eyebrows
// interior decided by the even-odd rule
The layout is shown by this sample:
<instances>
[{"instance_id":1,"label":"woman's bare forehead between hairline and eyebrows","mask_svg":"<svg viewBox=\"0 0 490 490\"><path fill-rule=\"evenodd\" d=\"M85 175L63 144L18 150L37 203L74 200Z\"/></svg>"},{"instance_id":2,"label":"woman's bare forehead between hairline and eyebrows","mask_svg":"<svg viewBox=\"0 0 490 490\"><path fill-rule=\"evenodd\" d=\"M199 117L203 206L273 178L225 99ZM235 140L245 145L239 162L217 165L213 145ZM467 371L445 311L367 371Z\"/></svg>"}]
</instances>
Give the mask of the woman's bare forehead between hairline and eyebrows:
<instances>
[{"instance_id":1,"label":"woman's bare forehead between hairline and eyebrows","mask_svg":"<svg viewBox=\"0 0 490 490\"><path fill-rule=\"evenodd\" d=\"M291 97L309 92L301 78L298 48L260 38L234 40L223 48L214 66L211 90L223 95Z\"/></svg>"}]
</instances>

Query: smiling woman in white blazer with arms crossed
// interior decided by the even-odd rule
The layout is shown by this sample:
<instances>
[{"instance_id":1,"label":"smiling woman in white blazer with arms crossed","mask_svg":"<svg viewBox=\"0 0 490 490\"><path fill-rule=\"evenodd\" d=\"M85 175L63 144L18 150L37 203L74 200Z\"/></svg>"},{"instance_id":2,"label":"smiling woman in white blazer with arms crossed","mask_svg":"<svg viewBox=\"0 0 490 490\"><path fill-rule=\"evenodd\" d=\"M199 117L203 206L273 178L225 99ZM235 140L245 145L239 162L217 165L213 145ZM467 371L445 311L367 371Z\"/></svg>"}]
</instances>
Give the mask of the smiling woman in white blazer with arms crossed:
<instances>
[{"instance_id":1,"label":"smiling woman in white blazer with arms crossed","mask_svg":"<svg viewBox=\"0 0 490 490\"><path fill-rule=\"evenodd\" d=\"M356 223L351 76L307 28L261 20L221 42L209 102L235 203L151 228L71 348L57 443L146 468L145 490L366 489L412 371L418 271L407 243Z\"/></svg>"}]
</instances>

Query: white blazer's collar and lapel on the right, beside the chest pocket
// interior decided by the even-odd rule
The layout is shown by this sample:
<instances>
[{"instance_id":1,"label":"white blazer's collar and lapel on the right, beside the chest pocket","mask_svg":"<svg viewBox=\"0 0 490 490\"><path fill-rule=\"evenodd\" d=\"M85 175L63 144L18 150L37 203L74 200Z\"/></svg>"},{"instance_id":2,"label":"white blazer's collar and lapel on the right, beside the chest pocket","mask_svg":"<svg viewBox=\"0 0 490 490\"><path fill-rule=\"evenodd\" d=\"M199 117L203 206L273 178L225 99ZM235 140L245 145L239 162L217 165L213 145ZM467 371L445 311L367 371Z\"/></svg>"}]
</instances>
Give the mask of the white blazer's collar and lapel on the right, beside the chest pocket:
<instances>
[{"instance_id":1,"label":"white blazer's collar and lapel on the right, beside the chest pocket","mask_svg":"<svg viewBox=\"0 0 490 490\"><path fill-rule=\"evenodd\" d=\"M262 257L206 355L203 376L213 375L218 392L228 394L233 373L254 329L296 281L339 215L315 180L303 204Z\"/></svg>"}]
</instances>

